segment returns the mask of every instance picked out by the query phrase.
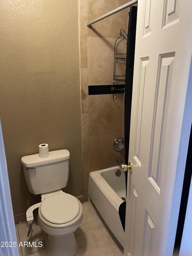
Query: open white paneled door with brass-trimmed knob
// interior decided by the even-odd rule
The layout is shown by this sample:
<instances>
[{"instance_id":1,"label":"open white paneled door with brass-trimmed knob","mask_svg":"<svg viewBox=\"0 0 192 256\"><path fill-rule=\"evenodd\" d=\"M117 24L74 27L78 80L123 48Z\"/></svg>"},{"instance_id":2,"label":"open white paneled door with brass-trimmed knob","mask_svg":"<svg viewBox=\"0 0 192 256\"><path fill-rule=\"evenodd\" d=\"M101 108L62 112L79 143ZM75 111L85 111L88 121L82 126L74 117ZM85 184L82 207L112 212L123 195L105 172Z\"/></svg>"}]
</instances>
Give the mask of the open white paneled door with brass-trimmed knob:
<instances>
[{"instance_id":1,"label":"open white paneled door with brass-trimmed knob","mask_svg":"<svg viewBox=\"0 0 192 256\"><path fill-rule=\"evenodd\" d=\"M173 254L192 116L191 13L191 0L138 1L124 255Z\"/></svg>"}]
</instances>

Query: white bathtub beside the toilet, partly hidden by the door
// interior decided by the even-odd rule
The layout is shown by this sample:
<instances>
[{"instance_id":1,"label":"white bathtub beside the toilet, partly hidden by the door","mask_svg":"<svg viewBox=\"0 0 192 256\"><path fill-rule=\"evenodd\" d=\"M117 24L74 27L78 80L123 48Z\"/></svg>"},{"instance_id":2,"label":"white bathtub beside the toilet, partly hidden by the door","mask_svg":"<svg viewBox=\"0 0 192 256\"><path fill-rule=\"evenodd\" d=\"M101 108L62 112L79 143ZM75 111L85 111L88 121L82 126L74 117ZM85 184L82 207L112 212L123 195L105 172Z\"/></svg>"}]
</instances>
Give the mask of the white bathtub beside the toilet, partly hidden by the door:
<instances>
[{"instance_id":1,"label":"white bathtub beside the toilet, partly hidden by the door","mask_svg":"<svg viewBox=\"0 0 192 256\"><path fill-rule=\"evenodd\" d=\"M91 172L88 193L101 217L124 247L125 232L119 218L119 206L123 203L121 197L126 197L125 173L121 172L121 176L117 177L116 170L119 166Z\"/></svg>"}]
</instances>

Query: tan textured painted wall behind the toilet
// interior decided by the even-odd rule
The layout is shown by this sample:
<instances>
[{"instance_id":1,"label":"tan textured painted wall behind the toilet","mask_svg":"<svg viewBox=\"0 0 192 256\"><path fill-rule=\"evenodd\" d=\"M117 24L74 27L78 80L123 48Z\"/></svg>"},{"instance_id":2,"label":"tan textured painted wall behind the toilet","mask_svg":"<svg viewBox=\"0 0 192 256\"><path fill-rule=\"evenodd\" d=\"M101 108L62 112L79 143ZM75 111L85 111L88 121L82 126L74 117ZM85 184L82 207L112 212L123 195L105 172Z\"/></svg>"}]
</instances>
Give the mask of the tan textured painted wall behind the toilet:
<instances>
[{"instance_id":1,"label":"tan textured painted wall behind the toilet","mask_svg":"<svg viewBox=\"0 0 192 256\"><path fill-rule=\"evenodd\" d=\"M20 159L40 143L70 151L65 191L82 193L78 2L1 1L0 45L0 116L17 215L29 196Z\"/></svg>"}]
</instances>

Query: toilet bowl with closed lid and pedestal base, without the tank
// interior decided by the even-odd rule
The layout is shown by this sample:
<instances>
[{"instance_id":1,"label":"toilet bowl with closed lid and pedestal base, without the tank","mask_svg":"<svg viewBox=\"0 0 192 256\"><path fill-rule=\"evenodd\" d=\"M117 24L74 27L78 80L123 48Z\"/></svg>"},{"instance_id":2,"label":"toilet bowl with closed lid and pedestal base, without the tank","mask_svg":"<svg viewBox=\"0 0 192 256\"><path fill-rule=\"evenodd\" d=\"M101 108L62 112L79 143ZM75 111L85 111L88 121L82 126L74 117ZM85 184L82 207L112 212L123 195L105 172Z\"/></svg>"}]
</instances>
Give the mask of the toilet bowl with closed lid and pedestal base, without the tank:
<instances>
[{"instance_id":1,"label":"toilet bowl with closed lid and pedestal base, without the tank","mask_svg":"<svg viewBox=\"0 0 192 256\"><path fill-rule=\"evenodd\" d=\"M82 222L82 204L70 194L59 193L50 193L43 200L38 211L38 224L47 234L49 256L73 256L78 249L74 232Z\"/></svg>"}]
</instances>

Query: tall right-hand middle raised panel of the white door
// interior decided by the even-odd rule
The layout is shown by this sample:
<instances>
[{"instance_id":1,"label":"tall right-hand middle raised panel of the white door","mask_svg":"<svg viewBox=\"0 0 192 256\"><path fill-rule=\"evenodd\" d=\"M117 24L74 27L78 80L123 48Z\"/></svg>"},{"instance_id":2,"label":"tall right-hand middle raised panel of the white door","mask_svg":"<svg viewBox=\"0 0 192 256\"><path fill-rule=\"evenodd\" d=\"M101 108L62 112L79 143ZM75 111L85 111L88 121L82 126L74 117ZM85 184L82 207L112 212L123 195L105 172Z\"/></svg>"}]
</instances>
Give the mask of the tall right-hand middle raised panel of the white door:
<instances>
[{"instance_id":1,"label":"tall right-hand middle raised panel of the white door","mask_svg":"<svg viewBox=\"0 0 192 256\"><path fill-rule=\"evenodd\" d=\"M160 193L163 162L164 131L166 129L169 92L172 82L175 53L159 56L155 104L153 111L152 139L149 159L149 180Z\"/></svg>"}]
</instances>

